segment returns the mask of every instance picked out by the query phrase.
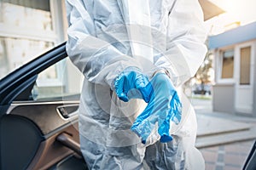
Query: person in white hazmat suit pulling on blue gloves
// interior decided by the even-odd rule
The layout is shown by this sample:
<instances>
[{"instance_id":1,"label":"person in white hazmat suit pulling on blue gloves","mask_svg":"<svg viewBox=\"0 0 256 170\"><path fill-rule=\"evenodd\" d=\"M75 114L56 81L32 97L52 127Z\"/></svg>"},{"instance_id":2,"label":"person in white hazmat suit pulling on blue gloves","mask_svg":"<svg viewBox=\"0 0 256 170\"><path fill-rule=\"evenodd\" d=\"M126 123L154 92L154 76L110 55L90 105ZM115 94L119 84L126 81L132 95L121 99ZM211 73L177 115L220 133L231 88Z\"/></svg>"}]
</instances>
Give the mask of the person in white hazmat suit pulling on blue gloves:
<instances>
[{"instance_id":1,"label":"person in white hazmat suit pulling on blue gloves","mask_svg":"<svg viewBox=\"0 0 256 170\"><path fill-rule=\"evenodd\" d=\"M88 167L204 169L195 111L179 90L207 53L198 1L66 0L66 7L67 54L84 74L79 133Z\"/></svg>"}]
</instances>

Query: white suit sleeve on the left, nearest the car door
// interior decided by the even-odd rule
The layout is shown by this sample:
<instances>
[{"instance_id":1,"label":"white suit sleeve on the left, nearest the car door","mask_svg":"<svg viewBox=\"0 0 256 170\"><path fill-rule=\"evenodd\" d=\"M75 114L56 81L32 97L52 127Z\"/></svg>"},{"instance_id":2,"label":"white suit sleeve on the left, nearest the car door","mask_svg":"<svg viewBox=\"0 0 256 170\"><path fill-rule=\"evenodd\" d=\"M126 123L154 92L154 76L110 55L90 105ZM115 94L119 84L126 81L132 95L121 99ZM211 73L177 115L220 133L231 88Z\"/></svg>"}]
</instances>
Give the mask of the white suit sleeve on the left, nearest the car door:
<instances>
[{"instance_id":1,"label":"white suit sleeve on the left, nearest the car door","mask_svg":"<svg viewBox=\"0 0 256 170\"><path fill-rule=\"evenodd\" d=\"M94 21L83 1L66 0L66 8L67 54L85 78L113 89L113 80L126 67L141 68L131 56L96 37Z\"/></svg>"}]
</instances>

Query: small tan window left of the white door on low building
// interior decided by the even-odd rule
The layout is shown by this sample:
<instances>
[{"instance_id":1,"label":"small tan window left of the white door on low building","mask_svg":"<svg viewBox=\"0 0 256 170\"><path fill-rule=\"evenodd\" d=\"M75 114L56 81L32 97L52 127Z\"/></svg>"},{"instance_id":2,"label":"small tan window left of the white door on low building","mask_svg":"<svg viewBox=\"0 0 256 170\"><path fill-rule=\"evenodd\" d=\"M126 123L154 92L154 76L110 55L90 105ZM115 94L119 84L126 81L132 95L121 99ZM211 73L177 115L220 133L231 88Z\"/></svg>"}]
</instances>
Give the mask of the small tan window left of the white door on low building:
<instances>
[{"instance_id":1,"label":"small tan window left of the white door on low building","mask_svg":"<svg viewBox=\"0 0 256 170\"><path fill-rule=\"evenodd\" d=\"M233 78L234 76L234 49L222 52L222 72L221 78Z\"/></svg>"}]
</instances>

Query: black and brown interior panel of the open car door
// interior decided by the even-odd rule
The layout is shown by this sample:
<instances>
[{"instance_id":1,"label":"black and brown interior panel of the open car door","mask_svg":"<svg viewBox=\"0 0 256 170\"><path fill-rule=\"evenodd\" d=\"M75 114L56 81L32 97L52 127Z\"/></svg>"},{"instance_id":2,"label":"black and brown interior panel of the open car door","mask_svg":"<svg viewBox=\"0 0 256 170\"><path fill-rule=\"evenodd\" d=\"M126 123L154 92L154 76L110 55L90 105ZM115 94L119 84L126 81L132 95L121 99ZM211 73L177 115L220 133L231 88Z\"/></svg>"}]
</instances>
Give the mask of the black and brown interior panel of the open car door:
<instances>
[{"instance_id":1,"label":"black and brown interior panel of the open car door","mask_svg":"<svg viewBox=\"0 0 256 170\"><path fill-rule=\"evenodd\" d=\"M82 167L86 169L78 151L78 107L78 101L11 105L8 114L1 118L1 169L48 169L58 167L57 164L67 156L83 162ZM69 112L73 116L63 118L59 108L73 111ZM58 137L63 134L67 138L60 141Z\"/></svg>"}]
</instances>

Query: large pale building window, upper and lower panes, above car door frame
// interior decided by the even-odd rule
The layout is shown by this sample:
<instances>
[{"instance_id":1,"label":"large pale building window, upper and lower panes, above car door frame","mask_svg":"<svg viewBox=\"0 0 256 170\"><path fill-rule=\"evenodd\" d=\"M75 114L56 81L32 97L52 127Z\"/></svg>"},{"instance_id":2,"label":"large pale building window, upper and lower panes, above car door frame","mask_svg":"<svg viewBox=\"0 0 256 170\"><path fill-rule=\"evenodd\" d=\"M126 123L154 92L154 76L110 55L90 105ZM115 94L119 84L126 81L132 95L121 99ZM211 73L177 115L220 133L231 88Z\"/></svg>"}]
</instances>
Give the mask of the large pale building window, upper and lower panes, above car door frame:
<instances>
[{"instance_id":1,"label":"large pale building window, upper and lower panes, above car door frame","mask_svg":"<svg viewBox=\"0 0 256 170\"><path fill-rule=\"evenodd\" d=\"M49 0L1 1L0 79L54 47L55 39Z\"/></svg>"}]
</instances>

